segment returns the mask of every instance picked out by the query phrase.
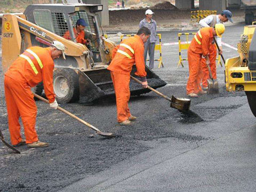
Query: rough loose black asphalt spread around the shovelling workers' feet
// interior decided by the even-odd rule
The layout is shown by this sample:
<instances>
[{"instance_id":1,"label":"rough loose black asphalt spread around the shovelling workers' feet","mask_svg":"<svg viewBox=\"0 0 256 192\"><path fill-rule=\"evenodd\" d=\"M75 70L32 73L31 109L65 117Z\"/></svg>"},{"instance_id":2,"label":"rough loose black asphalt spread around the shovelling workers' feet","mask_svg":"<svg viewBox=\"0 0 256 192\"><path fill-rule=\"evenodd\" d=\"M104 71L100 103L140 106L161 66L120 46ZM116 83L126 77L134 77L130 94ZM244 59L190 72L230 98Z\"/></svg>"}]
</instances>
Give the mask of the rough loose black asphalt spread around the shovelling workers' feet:
<instances>
[{"instance_id":1,"label":"rough loose black asphalt spread around the shovelling workers' feet","mask_svg":"<svg viewBox=\"0 0 256 192\"><path fill-rule=\"evenodd\" d=\"M2 88L1 84L3 96ZM169 97L172 93L185 97L185 89L185 85L165 86L158 91ZM186 124L189 129L195 123L212 121L212 113L214 119L220 118L231 109L210 110L194 106L217 97L234 95L244 95L244 93L229 94L222 86L219 95L204 95L193 99L189 114L170 108L169 101L153 92L132 97L130 109L132 114L138 117L138 121L127 127L119 126L116 122L114 98L97 101L91 106L79 103L60 105L101 131L113 132L116 137L112 139L99 135L90 137L94 131L60 111L52 110L46 103L37 101L36 129L39 140L50 142L50 146L38 149L20 146L18 149L21 154L18 155L1 143L0 191L58 191L85 178L86 174L103 171L111 165L150 149L143 141L170 137L182 142L208 140L210 138L204 138L201 135L180 133L178 128L181 124ZM234 105L234 108L236 107L239 106ZM4 102L0 110L0 127L6 140L10 142Z\"/></svg>"}]
</instances>

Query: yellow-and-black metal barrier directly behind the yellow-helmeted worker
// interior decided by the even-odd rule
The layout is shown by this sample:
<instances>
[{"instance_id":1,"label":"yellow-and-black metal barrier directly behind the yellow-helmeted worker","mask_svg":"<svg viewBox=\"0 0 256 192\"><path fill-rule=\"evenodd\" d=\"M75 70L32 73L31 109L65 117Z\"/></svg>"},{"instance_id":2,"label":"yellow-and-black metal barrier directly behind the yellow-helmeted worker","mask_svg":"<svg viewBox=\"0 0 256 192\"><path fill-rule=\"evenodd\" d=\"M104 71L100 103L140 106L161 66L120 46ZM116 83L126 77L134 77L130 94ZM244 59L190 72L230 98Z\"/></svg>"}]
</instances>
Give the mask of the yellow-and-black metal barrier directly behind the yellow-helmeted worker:
<instances>
[{"instance_id":1,"label":"yellow-and-black metal barrier directly behind the yellow-helmeted worker","mask_svg":"<svg viewBox=\"0 0 256 192\"><path fill-rule=\"evenodd\" d=\"M181 65L182 67L183 66L183 63L182 61L187 61L188 59L182 59L181 57L181 51L182 50L187 50L189 45L190 45L190 41L188 41L188 36L189 35L195 35L196 33L178 33L178 38L179 38L179 62L178 62L178 66L177 68ZM186 35L186 42L182 42L180 41L180 36L181 35ZM194 36L193 36L194 37ZM221 63L221 58L220 58L220 55L218 55L218 59L216 58L216 60L218 60L217 62L217 67L220 65L222 67L222 63Z\"/></svg>"}]
</instances>

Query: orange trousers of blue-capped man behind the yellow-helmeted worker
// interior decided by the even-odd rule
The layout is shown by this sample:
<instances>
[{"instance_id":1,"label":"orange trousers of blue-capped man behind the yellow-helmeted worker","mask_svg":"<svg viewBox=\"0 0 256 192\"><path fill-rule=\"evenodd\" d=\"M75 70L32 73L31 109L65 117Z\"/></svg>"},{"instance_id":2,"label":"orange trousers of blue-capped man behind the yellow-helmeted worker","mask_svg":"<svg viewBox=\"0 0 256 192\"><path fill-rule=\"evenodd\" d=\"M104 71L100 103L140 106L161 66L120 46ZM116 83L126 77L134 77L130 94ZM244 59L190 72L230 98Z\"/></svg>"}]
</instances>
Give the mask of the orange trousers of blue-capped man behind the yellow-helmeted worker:
<instances>
[{"instance_id":1,"label":"orange trousers of blue-capped man behind the yellow-helmeted worker","mask_svg":"<svg viewBox=\"0 0 256 192\"><path fill-rule=\"evenodd\" d=\"M210 69L212 72L212 77L214 79L217 79L217 73L216 73L216 57L217 57L217 49L216 45L212 44L209 48L209 59L210 59ZM201 66L202 66L202 71L200 73L201 79L202 79L202 85L203 87L207 87L207 79L210 79L210 73L209 69L206 66L206 59L202 58L201 59Z\"/></svg>"}]
</instances>

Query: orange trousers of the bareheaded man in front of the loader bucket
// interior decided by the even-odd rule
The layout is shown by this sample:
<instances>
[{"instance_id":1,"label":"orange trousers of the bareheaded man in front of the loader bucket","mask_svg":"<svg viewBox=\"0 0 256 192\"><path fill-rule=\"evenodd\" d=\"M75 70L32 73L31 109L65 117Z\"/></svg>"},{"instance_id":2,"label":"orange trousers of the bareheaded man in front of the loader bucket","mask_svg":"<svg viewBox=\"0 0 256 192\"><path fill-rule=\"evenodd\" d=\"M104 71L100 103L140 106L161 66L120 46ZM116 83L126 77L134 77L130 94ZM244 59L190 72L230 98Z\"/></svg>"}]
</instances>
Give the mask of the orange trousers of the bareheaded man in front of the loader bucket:
<instances>
[{"instance_id":1,"label":"orange trousers of the bareheaded man in front of the loader bucket","mask_svg":"<svg viewBox=\"0 0 256 192\"><path fill-rule=\"evenodd\" d=\"M116 93L117 122L123 122L131 116L128 102L130 100L130 75L110 71Z\"/></svg>"}]
</instances>

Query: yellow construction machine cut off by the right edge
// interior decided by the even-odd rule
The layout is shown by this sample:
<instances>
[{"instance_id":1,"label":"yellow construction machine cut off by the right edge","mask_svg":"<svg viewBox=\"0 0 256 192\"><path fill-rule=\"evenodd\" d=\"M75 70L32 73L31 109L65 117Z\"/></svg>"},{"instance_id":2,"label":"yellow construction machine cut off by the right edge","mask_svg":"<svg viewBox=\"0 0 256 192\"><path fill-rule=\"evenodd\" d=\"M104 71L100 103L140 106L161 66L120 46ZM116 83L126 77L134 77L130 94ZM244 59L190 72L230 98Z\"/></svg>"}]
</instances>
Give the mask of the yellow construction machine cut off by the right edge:
<instances>
[{"instance_id":1,"label":"yellow construction machine cut off by the right edge","mask_svg":"<svg viewBox=\"0 0 256 192\"><path fill-rule=\"evenodd\" d=\"M239 57L226 60L225 75L227 91L245 91L251 111L256 117L256 35L253 35L255 27L244 27L244 33L237 44Z\"/></svg>"}]
</instances>

